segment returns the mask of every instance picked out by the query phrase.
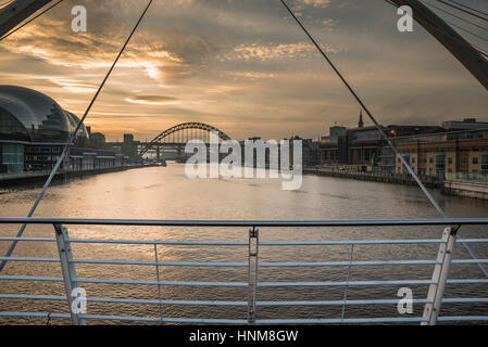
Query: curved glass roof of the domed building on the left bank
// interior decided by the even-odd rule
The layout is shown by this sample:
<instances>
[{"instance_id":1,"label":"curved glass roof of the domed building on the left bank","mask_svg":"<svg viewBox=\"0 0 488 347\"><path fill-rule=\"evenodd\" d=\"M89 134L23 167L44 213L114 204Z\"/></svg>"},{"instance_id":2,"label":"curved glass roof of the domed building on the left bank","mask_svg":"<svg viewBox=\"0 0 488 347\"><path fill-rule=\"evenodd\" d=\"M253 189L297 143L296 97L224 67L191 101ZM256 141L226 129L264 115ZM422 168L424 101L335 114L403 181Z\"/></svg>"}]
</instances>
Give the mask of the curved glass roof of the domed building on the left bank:
<instances>
[{"instance_id":1,"label":"curved glass roof of the domed building on the left bank","mask_svg":"<svg viewBox=\"0 0 488 347\"><path fill-rule=\"evenodd\" d=\"M33 89L0 86L0 140L66 142L79 119ZM88 138L85 126L77 138Z\"/></svg>"}]
</instances>

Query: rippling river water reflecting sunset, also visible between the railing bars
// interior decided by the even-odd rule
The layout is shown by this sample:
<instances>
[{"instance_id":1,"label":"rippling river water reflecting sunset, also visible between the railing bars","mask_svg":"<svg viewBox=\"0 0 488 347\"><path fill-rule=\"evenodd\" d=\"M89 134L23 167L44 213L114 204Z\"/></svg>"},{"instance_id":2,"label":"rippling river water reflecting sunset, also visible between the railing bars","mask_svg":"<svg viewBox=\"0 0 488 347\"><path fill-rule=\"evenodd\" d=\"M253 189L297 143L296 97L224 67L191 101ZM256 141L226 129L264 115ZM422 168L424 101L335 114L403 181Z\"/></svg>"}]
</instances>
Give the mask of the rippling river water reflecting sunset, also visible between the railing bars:
<instances>
[{"instance_id":1,"label":"rippling river water reflecting sunset, also visible between the railing bars","mask_svg":"<svg viewBox=\"0 0 488 347\"><path fill-rule=\"evenodd\" d=\"M24 217L38 194L39 187L0 191L0 216ZM433 194L449 217L488 217L488 202ZM281 190L278 179L188 179L184 166L133 169L55 182L47 192L35 217L143 218L143 219L361 219L361 218L430 218L438 217L416 187L364 182L349 179L304 176L301 189ZM12 236L18 226L2 226L0 236ZM117 239L159 241L248 241L246 228L154 228L154 227L77 227L68 228L74 239ZM260 228L261 241L324 241L377 239L440 239L441 227L383 228ZM486 237L486 228L463 227L465 239ZM24 236L53 237L49 226L27 227ZM7 242L0 243L2 254ZM487 258L488 244L472 245L479 257ZM348 261L350 246L260 247L260 261ZM361 245L353 249L354 260L436 259L438 245ZM154 260L153 245L73 244L75 258ZM159 246L160 261L248 261L248 247ZM55 243L22 242L14 256L58 257ZM461 244L454 256L468 258ZM78 278L157 280L153 266L76 265ZM160 267L161 280L167 281L247 281L247 268ZM429 280L433 266L356 266L350 269L350 281ZM2 275L60 277L59 264L9 262ZM476 265L453 265L451 278L480 279ZM277 281L347 281L348 267L260 268L260 282ZM154 285L90 284L83 285L89 297L158 299ZM401 286L355 286L347 290L348 299L399 299ZM414 299L424 299L426 285L410 285ZM345 286L260 287L258 300L342 300ZM61 283L0 281L0 293L63 295ZM166 300L246 301L243 287L163 286ZM488 297L486 284L449 285L446 297ZM412 317L418 317L423 304L413 305ZM164 305L125 305L88 303L89 314L149 316L179 318L246 319L246 307L195 307ZM65 301L0 299L0 311L62 311ZM342 307L293 306L259 307L258 319L340 318ZM488 314L488 305L446 304L441 314ZM345 318L405 317L397 305L348 306ZM0 323L46 323L45 319L4 318ZM67 323L51 320L53 324ZM107 322L103 322L107 323ZM124 323L124 322L118 322Z\"/></svg>"}]
</instances>

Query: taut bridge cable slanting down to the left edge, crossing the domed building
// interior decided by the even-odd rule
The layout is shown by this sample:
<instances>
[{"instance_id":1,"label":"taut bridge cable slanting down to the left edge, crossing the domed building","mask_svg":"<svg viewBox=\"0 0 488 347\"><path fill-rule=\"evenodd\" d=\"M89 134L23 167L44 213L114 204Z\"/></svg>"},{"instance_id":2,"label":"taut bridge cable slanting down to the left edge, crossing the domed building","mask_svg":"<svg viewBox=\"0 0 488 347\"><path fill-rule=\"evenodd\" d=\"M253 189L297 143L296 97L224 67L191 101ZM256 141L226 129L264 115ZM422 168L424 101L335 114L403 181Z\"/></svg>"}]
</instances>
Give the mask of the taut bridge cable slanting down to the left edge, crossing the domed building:
<instances>
[{"instance_id":1,"label":"taut bridge cable slanting down to the left edge, crossing the domed building","mask_svg":"<svg viewBox=\"0 0 488 347\"><path fill-rule=\"evenodd\" d=\"M102 91L107 80L109 79L110 75L112 74L113 69L115 68L115 65L117 64L118 60L121 59L122 54L124 53L128 42L130 41L132 37L134 36L134 34L136 33L139 24L142 22L142 18L145 17L146 13L148 12L151 3L153 2L153 0L150 0L149 3L147 4L145 11L142 12L142 14L140 15L139 20L137 21L136 25L134 26L133 30L130 31L130 35L127 37L124 46L122 47L121 51L118 52L117 56L115 57L115 61L113 62L112 66L110 67L109 72L107 73L105 77L103 78L102 82L100 83L100 87L98 88L97 92L95 93L93 98L91 99L91 102L89 103L85 114L83 115L82 119L78 121L78 125L76 126L75 131L73 131L70 136L70 139L67 141L67 143L65 144L63 152L61 153L58 162L55 163L54 167L51 170L51 174L48 177L48 180L46 181L45 185L42 187L42 190L40 191L39 195L37 196L33 207L30 208L27 217L30 218L34 213L36 211L37 206L39 205L40 201L42 200L47 189L49 188L49 185L51 184L52 179L54 178L55 174L58 172L61 164L64 160L64 157L66 156L66 153L73 142L73 140L76 138L77 132L79 131L79 129L82 128L83 123L85 121L86 117L88 116L88 113L90 112L91 107L95 104L95 101L97 100L98 95L100 94L100 92ZM22 234L24 233L24 230L26 228L27 224L22 224L21 229L18 230L16 237L21 237ZM10 245L9 249L7 250L5 257L10 257L12 255L12 252L15 249L15 246L17 244L17 240L15 240L14 242L12 242L12 244ZM0 264L0 272L3 270L5 264L7 264L8 259L2 260L2 262Z\"/></svg>"}]
</instances>

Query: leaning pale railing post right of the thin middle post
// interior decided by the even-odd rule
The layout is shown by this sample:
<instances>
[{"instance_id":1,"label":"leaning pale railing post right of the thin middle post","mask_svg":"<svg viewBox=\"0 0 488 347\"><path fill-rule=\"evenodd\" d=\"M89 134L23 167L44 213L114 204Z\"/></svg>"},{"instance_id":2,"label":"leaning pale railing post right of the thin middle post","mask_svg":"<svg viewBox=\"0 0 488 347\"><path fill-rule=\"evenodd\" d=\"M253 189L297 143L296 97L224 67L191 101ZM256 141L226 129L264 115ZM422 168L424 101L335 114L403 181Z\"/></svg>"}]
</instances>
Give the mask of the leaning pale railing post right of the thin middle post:
<instances>
[{"instance_id":1,"label":"leaning pale railing post right of the thin middle post","mask_svg":"<svg viewBox=\"0 0 488 347\"><path fill-rule=\"evenodd\" d=\"M423 318L428 321L422 322L422 325L436 325L439 317L440 306L442 304L446 283L448 280L449 268L451 267L452 252L455 245L458 228L446 228L442 234L442 243L439 246L437 261L433 272L433 281L428 288L427 300L425 304Z\"/></svg>"}]
</instances>

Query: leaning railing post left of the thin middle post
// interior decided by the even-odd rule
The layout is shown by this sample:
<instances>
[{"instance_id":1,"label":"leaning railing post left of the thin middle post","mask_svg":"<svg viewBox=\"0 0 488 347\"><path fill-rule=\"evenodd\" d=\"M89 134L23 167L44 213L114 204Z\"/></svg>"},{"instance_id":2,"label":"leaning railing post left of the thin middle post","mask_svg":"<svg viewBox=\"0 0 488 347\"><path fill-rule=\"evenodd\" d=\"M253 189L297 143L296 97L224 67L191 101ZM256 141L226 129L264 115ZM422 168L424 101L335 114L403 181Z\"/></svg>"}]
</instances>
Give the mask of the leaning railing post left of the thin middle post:
<instances>
[{"instance_id":1,"label":"leaning railing post left of the thin middle post","mask_svg":"<svg viewBox=\"0 0 488 347\"><path fill-rule=\"evenodd\" d=\"M54 224L55 241L61 260L61 272L63 274L64 290L66 292L67 304L70 306L71 321L73 325L86 325L86 320L79 317L78 309L80 303L74 300L74 290L79 288L76 278L75 265L73 264L73 253L71 249L67 229L61 224ZM74 309L74 304L76 309Z\"/></svg>"}]
</instances>

